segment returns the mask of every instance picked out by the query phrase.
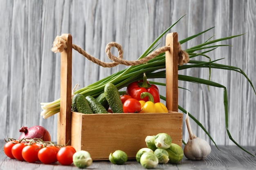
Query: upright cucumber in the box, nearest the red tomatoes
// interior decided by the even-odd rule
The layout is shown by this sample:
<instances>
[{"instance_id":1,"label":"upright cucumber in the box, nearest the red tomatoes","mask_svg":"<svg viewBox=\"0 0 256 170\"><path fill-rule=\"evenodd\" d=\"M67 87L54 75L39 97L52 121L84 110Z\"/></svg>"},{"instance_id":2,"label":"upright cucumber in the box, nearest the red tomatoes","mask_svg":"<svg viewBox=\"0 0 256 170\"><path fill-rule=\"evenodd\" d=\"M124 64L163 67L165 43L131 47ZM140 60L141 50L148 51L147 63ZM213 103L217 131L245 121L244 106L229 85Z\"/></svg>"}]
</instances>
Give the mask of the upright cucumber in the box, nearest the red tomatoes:
<instances>
[{"instance_id":1,"label":"upright cucumber in the box, nearest the red tomatoes","mask_svg":"<svg viewBox=\"0 0 256 170\"><path fill-rule=\"evenodd\" d=\"M119 91L117 87L112 84L108 83L104 87L105 97L108 101L110 108L112 109L113 113L124 113L123 111L123 104L119 95Z\"/></svg>"}]
</instances>

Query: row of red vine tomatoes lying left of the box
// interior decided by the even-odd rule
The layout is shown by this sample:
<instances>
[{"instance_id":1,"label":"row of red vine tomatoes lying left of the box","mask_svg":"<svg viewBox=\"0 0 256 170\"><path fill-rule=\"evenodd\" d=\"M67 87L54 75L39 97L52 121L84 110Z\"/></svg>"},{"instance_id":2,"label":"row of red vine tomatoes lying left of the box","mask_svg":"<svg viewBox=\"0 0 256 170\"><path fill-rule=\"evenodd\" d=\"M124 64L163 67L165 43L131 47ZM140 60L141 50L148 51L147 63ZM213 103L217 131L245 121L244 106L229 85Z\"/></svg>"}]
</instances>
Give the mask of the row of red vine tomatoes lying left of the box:
<instances>
[{"instance_id":1,"label":"row of red vine tomatoes lying left of the box","mask_svg":"<svg viewBox=\"0 0 256 170\"><path fill-rule=\"evenodd\" d=\"M76 150L72 146L61 146L52 141L23 138L8 139L4 145L4 153L11 159L29 163L51 164L58 162L61 165L71 165L73 163L72 156Z\"/></svg>"}]
</instances>

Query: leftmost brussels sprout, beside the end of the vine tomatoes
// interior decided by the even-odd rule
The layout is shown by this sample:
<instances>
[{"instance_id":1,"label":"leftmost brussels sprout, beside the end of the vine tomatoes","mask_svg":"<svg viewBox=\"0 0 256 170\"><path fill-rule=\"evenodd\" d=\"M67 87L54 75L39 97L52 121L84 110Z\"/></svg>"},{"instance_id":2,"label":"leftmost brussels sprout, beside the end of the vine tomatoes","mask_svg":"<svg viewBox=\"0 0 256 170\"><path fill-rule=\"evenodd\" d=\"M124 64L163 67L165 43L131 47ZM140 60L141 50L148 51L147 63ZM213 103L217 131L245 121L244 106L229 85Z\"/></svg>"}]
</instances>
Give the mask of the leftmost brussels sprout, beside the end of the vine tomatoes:
<instances>
[{"instance_id":1,"label":"leftmost brussels sprout, beside the end of the vine tomatoes","mask_svg":"<svg viewBox=\"0 0 256 170\"><path fill-rule=\"evenodd\" d=\"M86 168L92 164L92 158L89 152L80 150L74 153L73 163L78 168Z\"/></svg>"}]
</instances>

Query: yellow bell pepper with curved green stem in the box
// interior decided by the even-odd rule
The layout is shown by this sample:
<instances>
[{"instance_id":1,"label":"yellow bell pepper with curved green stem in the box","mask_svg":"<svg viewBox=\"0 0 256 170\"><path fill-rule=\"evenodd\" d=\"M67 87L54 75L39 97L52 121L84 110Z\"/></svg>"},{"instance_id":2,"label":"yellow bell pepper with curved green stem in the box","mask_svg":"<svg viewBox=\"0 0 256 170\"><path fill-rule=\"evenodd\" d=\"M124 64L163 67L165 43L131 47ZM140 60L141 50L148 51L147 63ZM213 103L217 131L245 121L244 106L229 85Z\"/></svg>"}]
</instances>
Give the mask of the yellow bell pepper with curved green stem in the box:
<instances>
[{"instance_id":1,"label":"yellow bell pepper with curved green stem in the box","mask_svg":"<svg viewBox=\"0 0 256 170\"><path fill-rule=\"evenodd\" d=\"M153 96L148 92L141 93L141 99L148 97L148 102L140 100L141 111L139 113L168 113L168 109L164 106L163 103L157 102L154 103Z\"/></svg>"}]
</instances>

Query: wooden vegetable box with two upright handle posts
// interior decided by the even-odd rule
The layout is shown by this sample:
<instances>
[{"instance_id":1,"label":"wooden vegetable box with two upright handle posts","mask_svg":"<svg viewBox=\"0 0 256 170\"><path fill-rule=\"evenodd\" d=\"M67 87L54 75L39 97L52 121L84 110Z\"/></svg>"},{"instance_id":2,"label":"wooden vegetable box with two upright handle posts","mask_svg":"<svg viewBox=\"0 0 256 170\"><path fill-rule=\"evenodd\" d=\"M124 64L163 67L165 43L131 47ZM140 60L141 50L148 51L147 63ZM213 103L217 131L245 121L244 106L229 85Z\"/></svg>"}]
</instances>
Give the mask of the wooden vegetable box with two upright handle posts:
<instances>
[{"instance_id":1,"label":"wooden vegetable box with two upright handle posts","mask_svg":"<svg viewBox=\"0 0 256 170\"><path fill-rule=\"evenodd\" d=\"M106 160L111 152L123 150L135 159L145 138L165 132L182 146L182 113L178 113L177 33L166 36L166 107L168 113L109 113L85 115L72 112L72 36L63 34L67 49L61 53L61 108L58 113L58 144L86 150L93 160Z\"/></svg>"}]
</instances>

